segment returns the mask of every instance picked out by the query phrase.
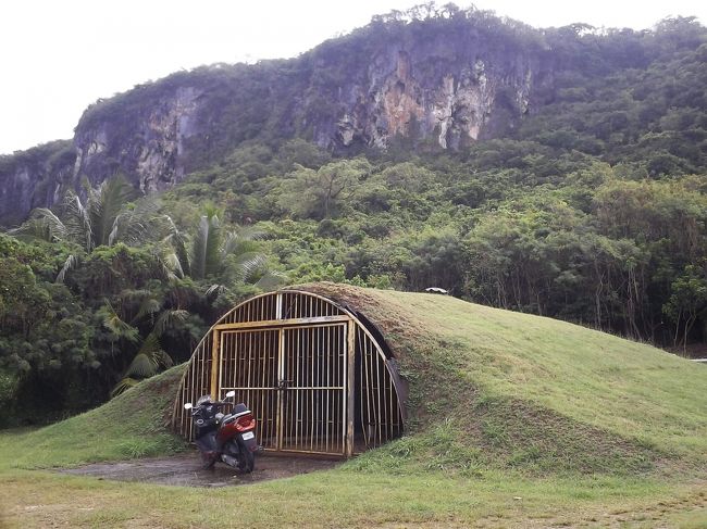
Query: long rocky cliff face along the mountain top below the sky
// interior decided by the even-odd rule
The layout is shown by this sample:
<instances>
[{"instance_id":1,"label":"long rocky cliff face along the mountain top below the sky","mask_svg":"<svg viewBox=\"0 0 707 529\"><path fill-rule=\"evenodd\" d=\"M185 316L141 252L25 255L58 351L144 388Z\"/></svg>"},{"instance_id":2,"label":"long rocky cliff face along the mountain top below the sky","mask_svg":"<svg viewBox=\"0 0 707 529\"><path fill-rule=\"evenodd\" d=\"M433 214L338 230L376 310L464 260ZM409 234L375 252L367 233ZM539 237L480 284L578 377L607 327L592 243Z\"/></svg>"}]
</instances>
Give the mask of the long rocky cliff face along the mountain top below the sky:
<instances>
[{"instance_id":1,"label":"long rocky cliff face along the mountain top below the sky","mask_svg":"<svg viewBox=\"0 0 707 529\"><path fill-rule=\"evenodd\" d=\"M514 127L551 86L548 64L517 36L418 21L372 24L289 61L174 74L89 106L71 153L52 163L51 153L30 164L5 158L0 223L116 173L146 193L169 188L249 139L299 136L340 152L395 138L463 149Z\"/></svg>"}]
</instances>

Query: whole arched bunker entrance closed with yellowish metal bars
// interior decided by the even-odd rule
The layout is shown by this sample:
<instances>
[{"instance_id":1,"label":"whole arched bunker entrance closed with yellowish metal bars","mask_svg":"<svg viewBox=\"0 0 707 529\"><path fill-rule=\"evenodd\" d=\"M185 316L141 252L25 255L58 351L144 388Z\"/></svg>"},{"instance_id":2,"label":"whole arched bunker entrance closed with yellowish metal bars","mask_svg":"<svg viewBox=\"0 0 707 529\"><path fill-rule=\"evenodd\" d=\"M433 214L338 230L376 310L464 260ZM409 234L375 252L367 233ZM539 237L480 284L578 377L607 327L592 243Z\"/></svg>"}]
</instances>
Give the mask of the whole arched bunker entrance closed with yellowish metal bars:
<instances>
[{"instance_id":1,"label":"whole arched bunker entrance closed with yellowish metal bars","mask_svg":"<svg viewBox=\"0 0 707 529\"><path fill-rule=\"evenodd\" d=\"M311 292L251 298L211 327L182 379L175 431L193 437L184 403L230 390L256 414L266 451L351 456L402 433L405 388L383 337Z\"/></svg>"}]
</instances>

